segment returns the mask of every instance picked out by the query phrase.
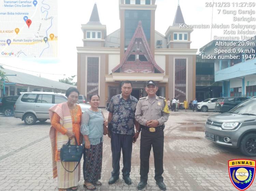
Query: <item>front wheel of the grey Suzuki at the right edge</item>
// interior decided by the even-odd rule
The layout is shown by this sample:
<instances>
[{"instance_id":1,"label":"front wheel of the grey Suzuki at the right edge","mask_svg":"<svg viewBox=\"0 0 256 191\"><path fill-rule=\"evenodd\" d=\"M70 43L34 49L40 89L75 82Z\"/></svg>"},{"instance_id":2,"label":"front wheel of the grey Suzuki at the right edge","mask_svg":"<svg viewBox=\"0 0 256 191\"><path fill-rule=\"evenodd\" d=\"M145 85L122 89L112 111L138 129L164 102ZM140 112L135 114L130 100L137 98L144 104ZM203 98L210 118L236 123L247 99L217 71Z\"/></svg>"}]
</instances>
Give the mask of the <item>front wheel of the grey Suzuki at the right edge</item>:
<instances>
[{"instance_id":1,"label":"front wheel of the grey Suzuki at the right edge","mask_svg":"<svg viewBox=\"0 0 256 191\"><path fill-rule=\"evenodd\" d=\"M245 135L240 145L241 152L246 156L256 156L256 134L250 133Z\"/></svg>"}]
</instances>

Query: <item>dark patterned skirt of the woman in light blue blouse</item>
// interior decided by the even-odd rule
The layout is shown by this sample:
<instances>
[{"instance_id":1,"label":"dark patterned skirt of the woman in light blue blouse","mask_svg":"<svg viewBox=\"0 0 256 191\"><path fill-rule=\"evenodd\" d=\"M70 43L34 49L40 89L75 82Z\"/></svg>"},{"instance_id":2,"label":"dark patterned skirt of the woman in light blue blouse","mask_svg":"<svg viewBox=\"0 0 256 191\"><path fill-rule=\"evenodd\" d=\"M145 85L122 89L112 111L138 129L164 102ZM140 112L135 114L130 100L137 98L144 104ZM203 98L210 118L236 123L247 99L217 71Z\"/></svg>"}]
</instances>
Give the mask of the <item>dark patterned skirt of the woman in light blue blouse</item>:
<instances>
[{"instance_id":1,"label":"dark patterned skirt of the woman in light blue blouse","mask_svg":"<svg viewBox=\"0 0 256 191\"><path fill-rule=\"evenodd\" d=\"M90 149L84 149L83 174L86 182L93 183L101 178L102 147L100 142L91 145Z\"/></svg>"}]
</instances>

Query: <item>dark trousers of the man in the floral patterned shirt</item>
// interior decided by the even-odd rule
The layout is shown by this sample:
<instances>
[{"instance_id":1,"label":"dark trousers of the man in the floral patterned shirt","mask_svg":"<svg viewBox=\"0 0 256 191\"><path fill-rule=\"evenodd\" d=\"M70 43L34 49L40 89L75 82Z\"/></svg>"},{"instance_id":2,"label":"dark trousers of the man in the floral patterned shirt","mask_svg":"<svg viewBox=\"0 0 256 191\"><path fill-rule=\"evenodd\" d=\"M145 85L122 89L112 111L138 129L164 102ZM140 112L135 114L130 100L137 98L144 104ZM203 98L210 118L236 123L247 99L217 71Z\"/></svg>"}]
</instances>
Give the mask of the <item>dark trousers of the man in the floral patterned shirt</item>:
<instances>
[{"instance_id":1,"label":"dark trousers of the man in the floral patterned shirt","mask_svg":"<svg viewBox=\"0 0 256 191\"><path fill-rule=\"evenodd\" d=\"M111 133L112 177L119 177L121 150L124 165L122 173L124 177L129 177L131 172L132 135Z\"/></svg>"}]
</instances>

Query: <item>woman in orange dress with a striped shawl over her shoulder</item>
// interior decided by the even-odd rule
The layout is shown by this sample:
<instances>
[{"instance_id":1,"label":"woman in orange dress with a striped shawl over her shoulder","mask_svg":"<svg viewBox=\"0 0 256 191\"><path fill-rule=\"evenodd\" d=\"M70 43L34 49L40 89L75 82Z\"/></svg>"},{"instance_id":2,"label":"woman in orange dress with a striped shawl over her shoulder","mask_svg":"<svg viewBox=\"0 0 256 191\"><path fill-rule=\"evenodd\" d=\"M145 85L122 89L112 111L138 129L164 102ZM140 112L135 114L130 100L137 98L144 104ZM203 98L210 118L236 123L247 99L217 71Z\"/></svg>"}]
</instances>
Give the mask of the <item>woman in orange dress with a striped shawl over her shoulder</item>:
<instances>
[{"instance_id":1,"label":"woman in orange dress with a striped shawl over her shoulder","mask_svg":"<svg viewBox=\"0 0 256 191\"><path fill-rule=\"evenodd\" d=\"M68 101L54 105L49 109L51 118L50 138L52 143L53 155L53 178L58 177L59 191L67 189L77 190L80 180L80 163L75 169L77 162L60 161L60 148L71 139L71 144L81 144L80 124L82 117L81 107L76 104L79 91L76 88L69 88L66 92ZM63 165L62 165L63 164ZM74 171L68 172L68 171Z\"/></svg>"}]
</instances>

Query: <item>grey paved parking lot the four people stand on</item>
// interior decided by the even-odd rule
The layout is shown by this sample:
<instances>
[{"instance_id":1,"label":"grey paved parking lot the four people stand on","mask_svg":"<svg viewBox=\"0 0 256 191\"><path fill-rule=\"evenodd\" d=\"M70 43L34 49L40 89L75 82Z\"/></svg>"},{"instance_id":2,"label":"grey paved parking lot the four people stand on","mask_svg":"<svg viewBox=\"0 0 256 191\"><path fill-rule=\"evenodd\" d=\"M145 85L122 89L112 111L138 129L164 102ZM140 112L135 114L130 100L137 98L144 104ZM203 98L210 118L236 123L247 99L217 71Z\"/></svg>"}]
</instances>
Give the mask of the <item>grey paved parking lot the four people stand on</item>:
<instances>
[{"instance_id":1,"label":"grey paved parking lot the four people stand on","mask_svg":"<svg viewBox=\"0 0 256 191\"><path fill-rule=\"evenodd\" d=\"M236 149L227 149L204 138L204 123L213 112L171 112L165 128L164 181L167 190L236 190L228 175L228 160L245 157ZM104 110L104 115L108 112ZM27 126L20 119L0 116L0 190L57 190L52 178L50 121ZM137 190L140 180L140 140L133 144L131 179L108 185L111 176L110 139L104 136L101 181L97 190ZM122 168L122 157L121 157ZM83 161L82 161L83 162ZM83 175L79 189L83 188ZM150 158L148 185L144 190L159 188L154 180L153 153ZM253 183L248 190L256 190Z\"/></svg>"}]
</instances>

